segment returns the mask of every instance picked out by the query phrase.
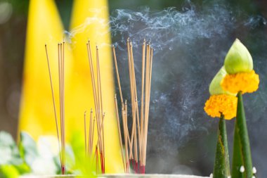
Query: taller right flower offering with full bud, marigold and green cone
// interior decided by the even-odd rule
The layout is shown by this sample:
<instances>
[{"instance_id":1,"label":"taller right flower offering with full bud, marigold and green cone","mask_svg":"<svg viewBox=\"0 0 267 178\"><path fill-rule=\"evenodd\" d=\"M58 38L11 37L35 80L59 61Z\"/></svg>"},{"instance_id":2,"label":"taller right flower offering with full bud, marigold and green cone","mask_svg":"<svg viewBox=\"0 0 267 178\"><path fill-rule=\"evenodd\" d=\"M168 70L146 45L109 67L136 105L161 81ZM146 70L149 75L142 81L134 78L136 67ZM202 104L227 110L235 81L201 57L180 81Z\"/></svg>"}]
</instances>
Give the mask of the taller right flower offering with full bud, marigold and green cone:
<instances>
[{"instance_id":1,"label":"taller right flower offering with full bud, marigold and green cone","mask_svg":"<svg viewBox=\"0 0 267 178\"><path fill-rule=\"evenodd\" d=\"M253 70L252 56L247 48L236 39L224 62L228 75L221 86L237 92L237 115L233 148L232 177L255 177L249 146L249 134L242 94L252 93L259 87L259 75Z\"/></svg>"}]
</instances>

